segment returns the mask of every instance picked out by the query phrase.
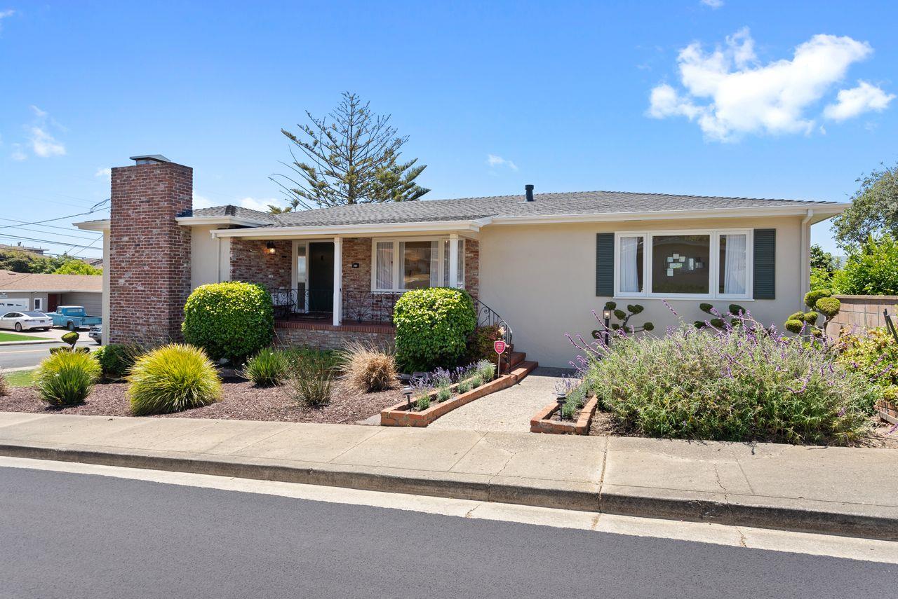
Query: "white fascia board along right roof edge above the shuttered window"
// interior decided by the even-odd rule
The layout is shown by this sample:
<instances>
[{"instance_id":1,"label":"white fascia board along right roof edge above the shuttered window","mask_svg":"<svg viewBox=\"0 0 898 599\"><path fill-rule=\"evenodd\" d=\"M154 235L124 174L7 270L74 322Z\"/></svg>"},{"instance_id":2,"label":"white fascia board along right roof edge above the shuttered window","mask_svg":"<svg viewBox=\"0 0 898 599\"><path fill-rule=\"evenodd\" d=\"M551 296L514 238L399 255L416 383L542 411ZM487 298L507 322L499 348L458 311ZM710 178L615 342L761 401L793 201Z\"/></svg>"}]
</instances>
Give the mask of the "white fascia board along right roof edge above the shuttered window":
<instances>
[{"instance_id":1,"label":"white fascia board along right roof edge above the shuttered window","mask_svg":"<svg viewBox=\"0 0 898 599\"><path fill-rule=\"evenodd\" d=\"M553 214L543 216L496 216L491 224L552 224L565 222L666 221L685 219L722 219L757 216L805 216L814 210L820 221L841 214L850 204L797 204L764 208L718 208L715 210L672 210L642 213Z\"/></svg>"}]
</instances>

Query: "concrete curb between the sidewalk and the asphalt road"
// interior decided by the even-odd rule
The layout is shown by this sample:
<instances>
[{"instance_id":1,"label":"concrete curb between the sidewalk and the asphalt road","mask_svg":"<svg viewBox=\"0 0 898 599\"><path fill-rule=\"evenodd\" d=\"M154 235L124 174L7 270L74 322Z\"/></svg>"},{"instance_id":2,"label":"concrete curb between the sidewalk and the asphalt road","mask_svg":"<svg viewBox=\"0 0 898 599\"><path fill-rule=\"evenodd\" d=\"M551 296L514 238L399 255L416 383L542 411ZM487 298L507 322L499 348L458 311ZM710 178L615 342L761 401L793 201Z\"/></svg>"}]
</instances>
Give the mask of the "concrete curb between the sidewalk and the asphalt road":
<instances>
[{"instance_id":1,"label":"concrete curb between the sidewalk and the asphalt road","mask_svg":"<svg viewBox=\"0 0 898 599\"><path fill-rule=\"evenodd\" d=\"M125 453L108 447L73 448L6 442L0 444L0 455L898 540L898 518L876 515L876 506L870 506L869 513L865 513L857 505L823 501L765 498L770 501L762 505L747 500L749 498L734 498L722 493L613 485L600 489L599 485L586 482L559 483L233 456L198 457L153 450ZM751 499L757 501L757 498Z\"/></svg>"}]
</instances>

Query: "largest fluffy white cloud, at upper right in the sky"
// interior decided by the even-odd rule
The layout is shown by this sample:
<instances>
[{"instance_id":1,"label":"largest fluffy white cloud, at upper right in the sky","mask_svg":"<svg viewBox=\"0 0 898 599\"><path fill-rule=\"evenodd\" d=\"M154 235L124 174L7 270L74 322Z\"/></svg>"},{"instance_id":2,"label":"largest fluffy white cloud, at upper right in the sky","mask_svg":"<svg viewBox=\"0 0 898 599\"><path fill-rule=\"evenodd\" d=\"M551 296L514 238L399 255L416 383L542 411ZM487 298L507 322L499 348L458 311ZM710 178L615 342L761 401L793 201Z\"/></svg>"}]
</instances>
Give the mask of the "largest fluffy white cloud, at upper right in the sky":
<instances>
[{"instance_id":1,"label":"largest fluffy white cloud, at upper right in the sky","mask_svg":"<svg viewBox=\"0 0 898 599\"><path fill-rule=\"evenodd\" d=\"M657 85L647 115L686 117L718 141L747 134L807 135L814 130L807 110L844 78L850 65L872 53L867 42L815 35L797 46L791 60L762 65L747 28L713 52L693 42L677 57L682 91Z\"/></svg>"}]
</instances>

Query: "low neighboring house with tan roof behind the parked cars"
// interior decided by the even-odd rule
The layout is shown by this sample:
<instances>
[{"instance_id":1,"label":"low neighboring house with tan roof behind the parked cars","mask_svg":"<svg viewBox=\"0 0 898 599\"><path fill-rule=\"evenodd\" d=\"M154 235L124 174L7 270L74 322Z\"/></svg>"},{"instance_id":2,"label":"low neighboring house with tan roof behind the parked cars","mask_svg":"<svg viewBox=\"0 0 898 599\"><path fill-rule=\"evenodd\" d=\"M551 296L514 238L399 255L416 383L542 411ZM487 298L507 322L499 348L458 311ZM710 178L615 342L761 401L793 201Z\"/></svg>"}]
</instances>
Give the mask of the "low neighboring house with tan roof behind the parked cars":
<instances>
[{"instance_id":1,"label":"low neighboring house with tan roof behind the parked cars","mask_svg":"<svg viewBox=\"0 0 898 599\"><path fill-rule=\"evenodd\" d=\"M31 274L0 270L0 308L52 312L57 306L84 306L103 316L101 277L88 274Z\"/></svg>"}]
</instances>

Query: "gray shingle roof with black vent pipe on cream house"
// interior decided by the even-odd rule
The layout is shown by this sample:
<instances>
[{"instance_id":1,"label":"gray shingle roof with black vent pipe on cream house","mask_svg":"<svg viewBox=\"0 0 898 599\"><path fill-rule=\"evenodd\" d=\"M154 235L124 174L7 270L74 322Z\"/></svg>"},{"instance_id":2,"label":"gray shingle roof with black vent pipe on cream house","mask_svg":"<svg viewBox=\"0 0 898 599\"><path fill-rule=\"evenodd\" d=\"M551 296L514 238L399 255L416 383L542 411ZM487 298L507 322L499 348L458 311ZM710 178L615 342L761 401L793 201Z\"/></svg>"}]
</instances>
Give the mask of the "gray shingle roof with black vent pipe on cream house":
<instances>
[{"instance_id":1,"label":"gray shingle roof with black vent pipe on cream house","mask_svg":"<svg viewBox=\"0 0 898 599\"><path fill-rule=\"evenodd\" d=\"M466 197L453 200L420 200L390 204L354 204L286 214L265 214L266 226L313 227L323 225L380 224L388 222L467 221L488 216L559 216L566 214L646 213L723 208L764 208L789 204L812 207L835 202L771 200L708 195L639 194L619 191L585 191L524 195ZM216 210L204 208L203 211ZM246 209L239 209L246 210ZM195 211L195 213L203 212ZM255 214L256 211L249 211ZM207 214L203 212L203 214ZM250 218L256 218L252 216Z\"/></svg>"}]
</instances>

